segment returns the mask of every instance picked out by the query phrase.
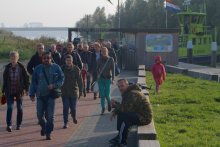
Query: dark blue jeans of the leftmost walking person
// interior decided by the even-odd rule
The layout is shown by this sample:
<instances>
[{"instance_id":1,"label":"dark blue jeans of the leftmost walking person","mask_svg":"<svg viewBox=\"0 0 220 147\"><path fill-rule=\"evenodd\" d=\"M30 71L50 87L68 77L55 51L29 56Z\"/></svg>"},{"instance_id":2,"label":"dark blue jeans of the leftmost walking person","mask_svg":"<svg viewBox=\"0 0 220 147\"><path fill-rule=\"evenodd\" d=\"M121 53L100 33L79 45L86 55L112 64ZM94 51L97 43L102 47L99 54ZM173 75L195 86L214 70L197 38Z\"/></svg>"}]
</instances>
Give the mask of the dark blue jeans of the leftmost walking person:
<instances>
[{"instance_id":1,"label":"dark blue jeans of the leftmost walking person","mask_svg":"<svg viewBox=\"0 0 220 147\"><path fill-rule=\"evenodd\" d=\"M7 101L7 115L6 115L6 123L7 126L12 125L11 117L13 112L14 106L14 96L6 96ZM17 103L17 126L21 125L22 118L23 118L23 109L22 109L22 98L16 98Z\"/></svg>"}]
</instances>

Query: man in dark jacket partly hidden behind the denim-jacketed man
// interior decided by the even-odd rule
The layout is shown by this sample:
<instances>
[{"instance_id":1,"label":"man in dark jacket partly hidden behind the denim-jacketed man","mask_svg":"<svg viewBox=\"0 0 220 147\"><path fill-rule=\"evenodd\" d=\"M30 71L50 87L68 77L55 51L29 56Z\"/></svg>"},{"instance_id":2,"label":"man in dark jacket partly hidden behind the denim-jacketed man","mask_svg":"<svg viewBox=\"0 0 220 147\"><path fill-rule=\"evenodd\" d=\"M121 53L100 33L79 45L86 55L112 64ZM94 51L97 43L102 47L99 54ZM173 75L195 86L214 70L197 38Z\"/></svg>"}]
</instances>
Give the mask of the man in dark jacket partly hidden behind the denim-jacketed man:
<instances>
[{"instance_id":1,"label":"man in dark jacket partly hidden behind the denim-jacketed man","mask_svg":"<svg viewBox=\"0 0 220 147\"><path fill-rule=\"evenodd\" d=\"M27 64L27 71L32 75L34 68L42 63L42 54L44 52L44 45L42 43L37 44L37 52L31 57L31 60Z\"/></svg>"}]
</instances>

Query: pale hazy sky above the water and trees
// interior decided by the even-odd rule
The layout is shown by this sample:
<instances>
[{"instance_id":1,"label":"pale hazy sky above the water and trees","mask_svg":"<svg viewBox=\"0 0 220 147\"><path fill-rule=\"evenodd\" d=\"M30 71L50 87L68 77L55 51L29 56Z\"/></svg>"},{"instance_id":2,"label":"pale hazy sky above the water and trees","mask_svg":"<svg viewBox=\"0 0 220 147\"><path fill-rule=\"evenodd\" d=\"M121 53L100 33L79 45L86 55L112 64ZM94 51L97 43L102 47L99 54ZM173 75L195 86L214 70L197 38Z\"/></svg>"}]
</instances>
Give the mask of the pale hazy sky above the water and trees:
<instances>
[{"instance_id":1,"label":"pale hazy sky above the water and trees","mask_svg":"<svg viewBox=\"0 0 220 147\"><path fill-rule=\"evenodd\" d=\"M44 27L74 27L96 7L105 7L114 14L118 0L0 0L0 23L5 27L23 27L25 23L40 22Z\"/></svg>"}]
</instances>

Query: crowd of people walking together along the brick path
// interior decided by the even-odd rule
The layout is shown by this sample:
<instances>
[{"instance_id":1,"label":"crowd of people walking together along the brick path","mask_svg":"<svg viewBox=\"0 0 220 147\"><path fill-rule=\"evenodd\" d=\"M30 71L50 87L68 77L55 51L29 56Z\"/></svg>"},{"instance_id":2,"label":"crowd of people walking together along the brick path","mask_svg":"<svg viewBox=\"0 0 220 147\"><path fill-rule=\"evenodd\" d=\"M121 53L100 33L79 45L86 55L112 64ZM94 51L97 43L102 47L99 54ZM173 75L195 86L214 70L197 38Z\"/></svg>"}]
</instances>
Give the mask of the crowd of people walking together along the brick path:
<instances>
[{"instance_id":1,"label":"crowd of people walking together along the brick path","mask_svg":"<svg viewBox=\"0 0 220 147\"><path fill-rule=\"evenodd\" d=\"M47 140L52 139L55 104L56 98L59 97L57 94L60 94L63 102L64 129L68 128L69 113L73 123L77 124L77 100L82 95L86 96L86 93L92 92L91 85L95 81L99 84L99 95L98 92L94 92L94 99L100 97L101 114L105 112L105 100L108 111L111 111L110 85L114 81L117 60L110 42L80 43L77 46L69 42L66 48L61 44L52 44L48 51L45 51L44 44L39 43L27 68L18 60L19 53L11 51L10 63L5 66L3 72L2 93L7 101L6 130L8 132L12 132L14 102L17 103L16 129L21 129L24 95L29 95L31 101L36 100L40 134L46 136Z\"/></svg>"}]
</instances>

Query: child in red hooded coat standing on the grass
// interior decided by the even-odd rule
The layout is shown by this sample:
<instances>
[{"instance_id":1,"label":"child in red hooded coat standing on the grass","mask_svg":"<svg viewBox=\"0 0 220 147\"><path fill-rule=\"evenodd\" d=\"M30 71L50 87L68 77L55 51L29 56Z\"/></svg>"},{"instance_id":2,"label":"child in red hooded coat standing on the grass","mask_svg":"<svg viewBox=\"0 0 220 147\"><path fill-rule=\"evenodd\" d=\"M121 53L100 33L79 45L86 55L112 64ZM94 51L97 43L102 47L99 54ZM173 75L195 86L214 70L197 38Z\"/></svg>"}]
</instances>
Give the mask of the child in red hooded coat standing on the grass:
<instances>
[{"instance_id":1,"label":"child in red hooded coat standing on the grass","mask_svg":"<svg viewBox=\"0 0 220 147\"><path fill-rule=\"evenodd\" d=\"M161 63L161 56L155 57L155 63L152 66L152 74L154 77L154 81L156 83L156 93L159 93L159 87L162 85L163 81L166 79L166 70L164 65Z\"/></svg>"}]
</instances>

